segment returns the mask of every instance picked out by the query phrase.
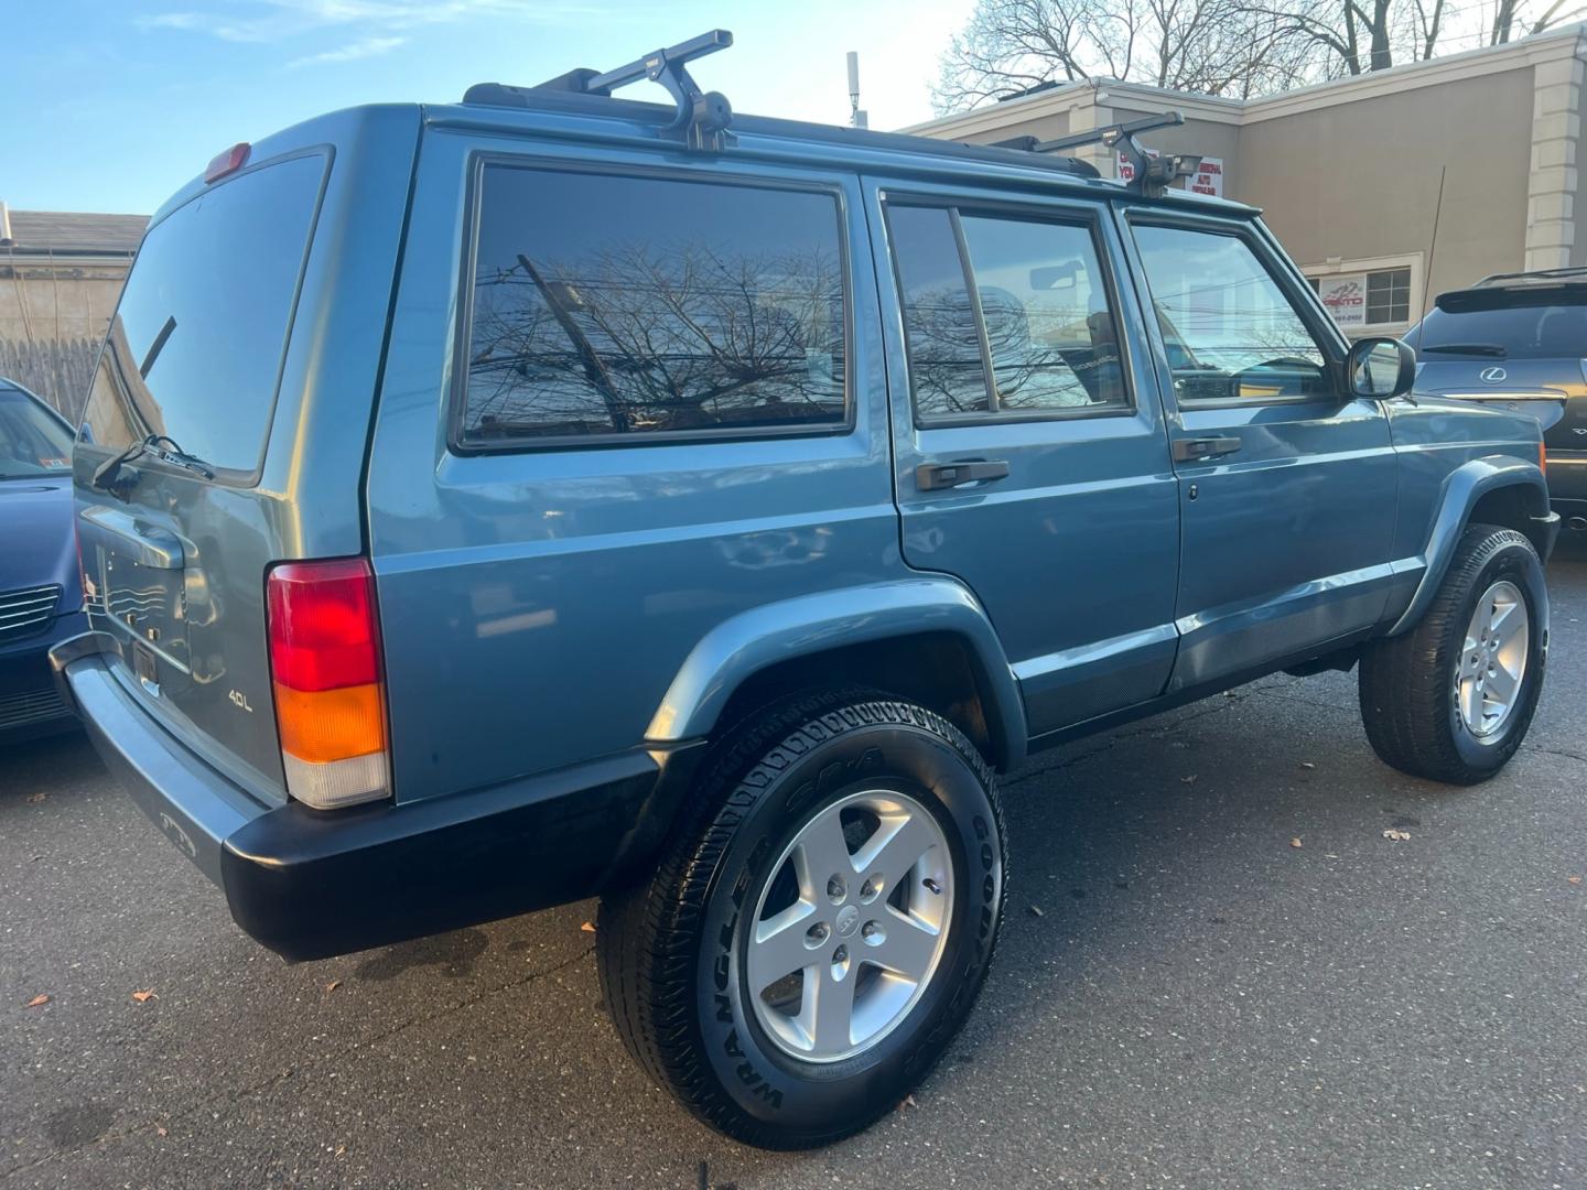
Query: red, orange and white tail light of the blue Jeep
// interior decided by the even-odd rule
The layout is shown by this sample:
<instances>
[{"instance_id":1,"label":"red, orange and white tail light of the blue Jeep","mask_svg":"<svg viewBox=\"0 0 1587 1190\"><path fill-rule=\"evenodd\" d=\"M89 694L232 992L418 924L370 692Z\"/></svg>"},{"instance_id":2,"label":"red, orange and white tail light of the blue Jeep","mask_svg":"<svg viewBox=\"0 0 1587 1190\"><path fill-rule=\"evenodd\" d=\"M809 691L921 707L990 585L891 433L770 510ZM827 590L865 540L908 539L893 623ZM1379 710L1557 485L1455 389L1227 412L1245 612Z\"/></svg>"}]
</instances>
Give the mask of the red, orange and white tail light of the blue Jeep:
<instances>
[{"instance_id":1,"label":"red, orange and white tail light of the blue Jeep","mask_svg":"<svg viewBox=\"0 0 1587 1190\"><path fill-rule=\"evenodd\" d=\"M370 563L289 562L265 585L287 793L314 809L390 797Z\"/></svg>"}]
</instances>

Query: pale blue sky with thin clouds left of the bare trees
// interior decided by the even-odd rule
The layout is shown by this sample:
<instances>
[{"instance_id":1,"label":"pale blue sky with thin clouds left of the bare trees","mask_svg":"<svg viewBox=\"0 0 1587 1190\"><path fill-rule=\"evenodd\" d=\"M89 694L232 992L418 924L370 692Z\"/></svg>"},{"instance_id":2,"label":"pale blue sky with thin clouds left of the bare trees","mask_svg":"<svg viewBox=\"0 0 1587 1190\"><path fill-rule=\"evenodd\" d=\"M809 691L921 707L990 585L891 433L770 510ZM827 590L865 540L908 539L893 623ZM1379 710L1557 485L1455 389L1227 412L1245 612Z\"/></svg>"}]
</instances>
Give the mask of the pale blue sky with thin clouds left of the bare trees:
<instances>
[{"instance_id":1,"label":"pale blue sky with thin clouds left of the bare trees","mask_svg":"<svg viewBox=\"0 0 1587 1190\"><path fill-rule=\"evenodd\" d=\"M708 29L701 86L738 111L847 121L860 52L871 127L930 117L936 57L971 0L0 0L0 198L151 213L205 162L308 116L609 68ZM640 98L652 89L636 84ZM654 90L660 97L659 89Z\"/></svg>"}]
</instances>

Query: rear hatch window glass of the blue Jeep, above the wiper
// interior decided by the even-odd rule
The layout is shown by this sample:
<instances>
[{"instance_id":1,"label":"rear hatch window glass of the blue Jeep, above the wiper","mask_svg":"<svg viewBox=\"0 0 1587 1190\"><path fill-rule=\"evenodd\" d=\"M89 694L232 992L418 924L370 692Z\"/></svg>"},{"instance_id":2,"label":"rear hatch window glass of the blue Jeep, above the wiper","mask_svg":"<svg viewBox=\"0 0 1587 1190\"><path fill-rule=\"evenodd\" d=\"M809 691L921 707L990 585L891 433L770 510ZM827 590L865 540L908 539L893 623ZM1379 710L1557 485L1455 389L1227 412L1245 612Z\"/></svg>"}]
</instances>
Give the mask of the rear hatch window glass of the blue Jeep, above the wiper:
<instances>
[{"instance_id":1,"label":"rear hatch window glass of the blue Jeep, above the wiper","mask_svg":"<svg viewBox=\"0 0 1587 1190\"><path fill-rule=\"evenodd\" d=\"M325 159L198 195L149 230L111 322L83 436L151 433L217 471L259 468Z\"/></svg>"}]
</instances>

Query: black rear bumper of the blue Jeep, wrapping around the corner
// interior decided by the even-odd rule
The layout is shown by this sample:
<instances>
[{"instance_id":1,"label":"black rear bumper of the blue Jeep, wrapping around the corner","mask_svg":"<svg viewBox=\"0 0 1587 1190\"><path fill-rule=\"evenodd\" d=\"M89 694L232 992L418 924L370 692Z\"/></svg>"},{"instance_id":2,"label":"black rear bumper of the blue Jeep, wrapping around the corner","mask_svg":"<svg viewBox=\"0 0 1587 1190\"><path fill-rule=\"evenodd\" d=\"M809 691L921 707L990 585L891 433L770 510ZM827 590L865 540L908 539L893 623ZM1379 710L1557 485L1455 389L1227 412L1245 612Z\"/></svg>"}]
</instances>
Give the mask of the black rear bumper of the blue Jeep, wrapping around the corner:
<instances>
[{"instance_id":1,"label":"black rear bumper of the blue Jeep, wrapping around the corner","mask_svg":"<svg viewBox=\"0 0 1587 1190\"><path fill-rule=\"evenodd\" d=\"M148 714L87 636L51 654L95 750L289 960L327 958L576 901L636 874L698 755L635 749L490 789L397 804L268 806Z\"/></svg>"}]
</instances>

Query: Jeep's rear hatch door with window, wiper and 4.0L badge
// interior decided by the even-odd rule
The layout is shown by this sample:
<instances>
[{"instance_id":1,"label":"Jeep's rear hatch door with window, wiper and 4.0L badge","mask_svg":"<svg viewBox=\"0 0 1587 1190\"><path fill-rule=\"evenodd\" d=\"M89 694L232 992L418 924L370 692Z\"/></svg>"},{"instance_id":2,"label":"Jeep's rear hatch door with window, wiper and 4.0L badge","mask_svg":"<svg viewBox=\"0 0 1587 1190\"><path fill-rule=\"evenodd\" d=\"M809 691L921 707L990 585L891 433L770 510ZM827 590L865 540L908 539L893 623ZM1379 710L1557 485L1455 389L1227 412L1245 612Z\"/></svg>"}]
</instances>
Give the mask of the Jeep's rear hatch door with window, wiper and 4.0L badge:
<instances>
[{"instance_id":1,"label":"Jeep's rear hatch door with window, wiper and 4.0L badge","mask_svg":"<svg viewBox=\"0 0 1587 1190\"><path fill-rule=\"evenodd\" d=\"M263 584L281 543L254 486L327 163L241 173L151 227L76 466L90 627L119 638L129 685L184 743L275 797Z\"/></svg>"}]
</instances>

